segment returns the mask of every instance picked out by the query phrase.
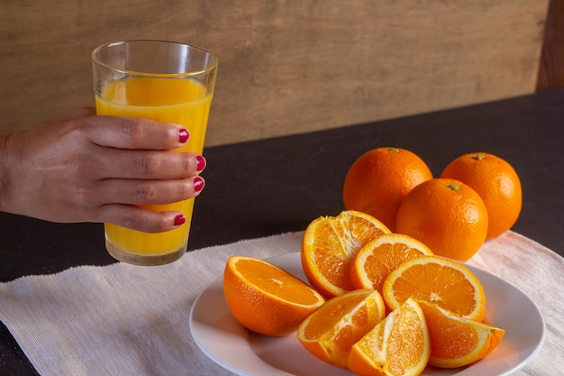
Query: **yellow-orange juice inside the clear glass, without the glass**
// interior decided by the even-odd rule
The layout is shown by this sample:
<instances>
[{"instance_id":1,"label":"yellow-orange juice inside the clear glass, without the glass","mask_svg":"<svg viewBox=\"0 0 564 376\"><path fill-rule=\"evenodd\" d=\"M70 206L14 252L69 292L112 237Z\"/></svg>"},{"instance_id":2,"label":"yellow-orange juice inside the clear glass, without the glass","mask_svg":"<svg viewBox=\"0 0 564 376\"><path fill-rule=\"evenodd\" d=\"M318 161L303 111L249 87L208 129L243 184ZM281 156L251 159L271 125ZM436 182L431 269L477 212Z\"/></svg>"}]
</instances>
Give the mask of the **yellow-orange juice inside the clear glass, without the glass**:
<instances>
[{"instance_id":1,"label":"yellow-orange juice inside the clear glass, without the glass","mask_svg":"<svg viewBox=\"0 0 564 376\"><path fill-rule=\"evenodd\" d=\"M104 87L101 96L96 96L96 113L182 124L190 133L190 139L177 150L201 154L211 102L212 96L206 94L204 85L195 79L128 77ZM143 207L159 212L180 211L186 216L186 223L159 234L105 224L108 248L114 249L114 252L154 256L153 259L162 259L163 263L170 261L168 255L179 258L186 251L194 198ZM174 256L176 254L177 257Z\"/></svg>"}]
</instances>

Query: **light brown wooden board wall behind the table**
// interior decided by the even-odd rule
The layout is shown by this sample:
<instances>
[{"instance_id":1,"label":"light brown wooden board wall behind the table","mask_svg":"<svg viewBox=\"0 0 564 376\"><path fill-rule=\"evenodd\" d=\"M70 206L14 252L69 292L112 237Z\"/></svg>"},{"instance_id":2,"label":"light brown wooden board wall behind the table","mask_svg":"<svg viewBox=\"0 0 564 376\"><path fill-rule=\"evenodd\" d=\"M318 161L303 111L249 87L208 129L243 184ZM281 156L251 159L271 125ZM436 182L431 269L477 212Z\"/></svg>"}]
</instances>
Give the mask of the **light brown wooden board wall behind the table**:
<instances>
[{"instance_id":1,"label":"light brown wooden board wall behind the table","mask_svg":"<svg viewBox=\"0 0 564 376\"><path fill-rule=\"evenodd\" d=\"M218 55L208 146L529 94L548 5L4 0L0 132L93 105L90 52L124 39L186 41Z\"/></svg>"}]
</instances>

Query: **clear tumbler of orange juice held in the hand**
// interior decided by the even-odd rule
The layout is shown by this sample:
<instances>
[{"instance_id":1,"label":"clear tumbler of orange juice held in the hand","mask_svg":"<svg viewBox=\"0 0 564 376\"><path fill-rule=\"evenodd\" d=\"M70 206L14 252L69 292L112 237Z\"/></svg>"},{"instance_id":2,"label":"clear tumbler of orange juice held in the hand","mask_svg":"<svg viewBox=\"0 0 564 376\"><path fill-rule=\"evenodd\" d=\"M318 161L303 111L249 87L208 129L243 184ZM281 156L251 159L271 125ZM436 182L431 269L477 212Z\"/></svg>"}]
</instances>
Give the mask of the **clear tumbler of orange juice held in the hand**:
<instances>
[{"instance_id":1,"label":"clear tumbler of orange juice held in the hand","mask_svg":"<svg viewBox=\"0 0 564 376\"><path fill-rule=\"evenodd\" d=\"M202 153L218 63L213 54L174 41L119 41L96 48L92 61L97 115L182 124L190 139L178 151ZM158 234L105 224L108 252L136 265L161 265L182 257L194 198L143 207L180 211L186 222Z\"/></svg>"}]
</instances>

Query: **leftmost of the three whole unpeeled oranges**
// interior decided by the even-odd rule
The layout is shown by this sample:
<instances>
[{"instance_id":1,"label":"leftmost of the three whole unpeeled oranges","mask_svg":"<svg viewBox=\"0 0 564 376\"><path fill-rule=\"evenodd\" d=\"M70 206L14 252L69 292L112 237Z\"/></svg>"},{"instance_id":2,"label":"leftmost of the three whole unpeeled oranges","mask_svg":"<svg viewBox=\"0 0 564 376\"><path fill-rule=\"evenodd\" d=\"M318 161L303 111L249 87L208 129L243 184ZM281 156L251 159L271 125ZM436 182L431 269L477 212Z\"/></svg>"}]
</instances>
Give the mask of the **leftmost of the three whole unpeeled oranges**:
<instances>
[{"instance_id":1,"label":"leftmost of the three whole unpeeled oranges","mask_svg":"<svg viewBox=\"0 0 564 376\"><path fill-rule=\"evenodd\" d=\"M350 166L342 188L347 210L374 216L392 232L402 199L432 172L414 152L382 147L362 154Z\"/></svg>"}]
</instances>

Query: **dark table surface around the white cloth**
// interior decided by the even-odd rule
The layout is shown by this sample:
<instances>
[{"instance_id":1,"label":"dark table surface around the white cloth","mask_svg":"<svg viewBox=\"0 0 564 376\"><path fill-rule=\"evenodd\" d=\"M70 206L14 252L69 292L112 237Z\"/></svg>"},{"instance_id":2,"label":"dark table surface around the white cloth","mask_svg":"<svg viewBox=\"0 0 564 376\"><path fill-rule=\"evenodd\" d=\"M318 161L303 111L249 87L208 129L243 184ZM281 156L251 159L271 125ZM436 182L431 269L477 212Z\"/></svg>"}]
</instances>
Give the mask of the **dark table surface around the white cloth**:
<instances>
[{"instance_id":1,"label":"dark table surface around the white cloth","mask_svg":"<svg viewBox=\"0 0 564 376\"><path fill-rule=\"evenodd\" d=\"M509 161L523 185L513 230L564 255L564 88L373 124L241 142L205 150L188 251L288 231L344 208L343 179L380 146L414 151L438 177L454 158L487 151ZM61 225L0 213L0 281L113 263L100 224ZM0 301L0 305L2 302ZM36 375L0 325L0 375Z\"/></svg>"}]
</instances>

